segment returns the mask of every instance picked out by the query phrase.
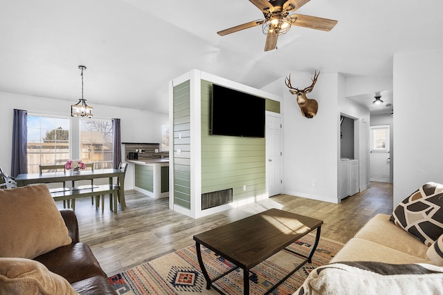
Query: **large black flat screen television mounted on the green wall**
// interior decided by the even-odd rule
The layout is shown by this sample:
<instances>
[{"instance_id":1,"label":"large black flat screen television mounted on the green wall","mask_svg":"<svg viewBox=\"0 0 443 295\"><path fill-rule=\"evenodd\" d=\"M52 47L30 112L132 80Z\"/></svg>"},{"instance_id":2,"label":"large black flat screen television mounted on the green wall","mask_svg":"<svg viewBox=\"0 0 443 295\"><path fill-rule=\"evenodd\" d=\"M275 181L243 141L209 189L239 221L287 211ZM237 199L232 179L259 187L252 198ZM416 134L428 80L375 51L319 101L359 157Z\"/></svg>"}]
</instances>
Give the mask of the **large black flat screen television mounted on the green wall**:
<instances>
[{"instance_id":1,"label":"large black flat screen television mounted on the green wall","mask_svg":"<svg viewBox=\"0 0 443 295\"><path fill-rule=\"evenodd\" d=\"M213 84L212 135L264 137L265 99Z\"/></svg>"}]
</instances>

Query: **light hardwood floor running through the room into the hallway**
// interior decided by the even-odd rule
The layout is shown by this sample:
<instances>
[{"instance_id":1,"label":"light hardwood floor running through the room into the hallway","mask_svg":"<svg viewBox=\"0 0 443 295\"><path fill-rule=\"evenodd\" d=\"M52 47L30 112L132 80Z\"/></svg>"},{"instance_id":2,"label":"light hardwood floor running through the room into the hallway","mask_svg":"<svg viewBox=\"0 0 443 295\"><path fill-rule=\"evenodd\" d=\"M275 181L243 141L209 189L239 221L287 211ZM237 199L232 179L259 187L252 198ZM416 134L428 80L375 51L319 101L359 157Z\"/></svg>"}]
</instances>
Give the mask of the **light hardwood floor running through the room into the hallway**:
<instances>
[{"instance_id":1,"label":"light hardwood floor running through the room into the hallway","mask_svg":"<svg viewBox=\"0 0 443 295\"><path fill-rule=\"evenodd\" d=\"M127 209L96 209L90 198L75 202L80 241L88 244L108 276L140 265L195 242L192 236L266 209L278 208L324 221L321 236L347 242L372 216L392 213L392 184L372 182L370 189L331 204L278 195L204 218L193 219L168 208L168 199L154 200L125 191ZM62 208L62 202L57 202Z\"/></svg>"}]
</instances>

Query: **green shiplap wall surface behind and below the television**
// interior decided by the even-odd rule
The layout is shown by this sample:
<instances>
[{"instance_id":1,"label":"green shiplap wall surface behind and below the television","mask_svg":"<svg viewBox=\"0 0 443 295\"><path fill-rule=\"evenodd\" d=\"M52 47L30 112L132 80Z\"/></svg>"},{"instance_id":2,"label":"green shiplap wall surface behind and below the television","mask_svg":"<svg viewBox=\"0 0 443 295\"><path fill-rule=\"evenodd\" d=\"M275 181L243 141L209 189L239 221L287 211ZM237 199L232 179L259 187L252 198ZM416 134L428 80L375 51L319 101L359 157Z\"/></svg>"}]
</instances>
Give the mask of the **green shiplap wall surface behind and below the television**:
<instances>
[{"instance_id":1,"label":"green shiplap wall surface behind and below the television","mask_svg":"<svg viewBox=\"0 0 443 295\"><path fill-rule=\"evenodd\" d=\"M266 140L210 135L212 89L212 82L201 80L201 193L232 188L234 201L264 194ZM266 99L266 111L280 113L280 102Z\"/></svg>"}]
</instances>

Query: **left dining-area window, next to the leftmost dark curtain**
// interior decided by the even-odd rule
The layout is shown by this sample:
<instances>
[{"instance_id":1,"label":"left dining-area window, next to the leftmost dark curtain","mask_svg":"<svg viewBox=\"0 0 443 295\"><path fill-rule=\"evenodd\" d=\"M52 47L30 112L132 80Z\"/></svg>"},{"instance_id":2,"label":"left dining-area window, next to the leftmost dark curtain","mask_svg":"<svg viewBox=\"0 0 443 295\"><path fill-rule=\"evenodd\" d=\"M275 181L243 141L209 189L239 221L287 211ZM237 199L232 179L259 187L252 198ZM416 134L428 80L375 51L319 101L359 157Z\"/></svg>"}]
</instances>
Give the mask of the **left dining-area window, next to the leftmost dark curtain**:
<instances>
[{"instance_id":1,"label":"left dining-area window, next to the leftmost dark curtain","mask_svg":"<svg viewBox=\"0 0 443 295\"><path fill-rule=\"evenodd\" d=\"M28 114L28 173L69 160L69 118Z\"/></svg>"}]
</instances>

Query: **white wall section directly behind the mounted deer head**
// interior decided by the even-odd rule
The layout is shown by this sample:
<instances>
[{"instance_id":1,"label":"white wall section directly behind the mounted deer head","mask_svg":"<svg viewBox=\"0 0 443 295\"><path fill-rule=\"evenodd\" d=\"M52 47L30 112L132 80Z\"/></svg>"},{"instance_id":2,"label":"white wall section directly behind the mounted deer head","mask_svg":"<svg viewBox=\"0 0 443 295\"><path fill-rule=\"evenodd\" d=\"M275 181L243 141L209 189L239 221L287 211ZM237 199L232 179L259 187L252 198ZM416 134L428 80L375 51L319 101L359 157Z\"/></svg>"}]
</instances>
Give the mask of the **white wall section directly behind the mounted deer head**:
<instances>
[{"instance_id":1,"label":"white wall section directly behind the mounted deer head","mask_svg":"<svg viewBox=\"0 0 443 295\"><path fill-rule=\"evenodd\" d=\"M337 167L339 91L338 73L320 73L314 91L307 97L318 102L317 115L311 119L303 117L296 97L289 93L284 78L262 88L283 96L283 187L284 193L338 202ZM293 86L305 88L312 81L312 75L292 75ZM315 187L312 183L315 182Z\"/></svg>"}]
</instances>

